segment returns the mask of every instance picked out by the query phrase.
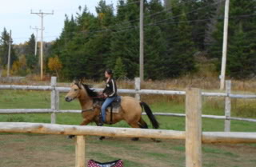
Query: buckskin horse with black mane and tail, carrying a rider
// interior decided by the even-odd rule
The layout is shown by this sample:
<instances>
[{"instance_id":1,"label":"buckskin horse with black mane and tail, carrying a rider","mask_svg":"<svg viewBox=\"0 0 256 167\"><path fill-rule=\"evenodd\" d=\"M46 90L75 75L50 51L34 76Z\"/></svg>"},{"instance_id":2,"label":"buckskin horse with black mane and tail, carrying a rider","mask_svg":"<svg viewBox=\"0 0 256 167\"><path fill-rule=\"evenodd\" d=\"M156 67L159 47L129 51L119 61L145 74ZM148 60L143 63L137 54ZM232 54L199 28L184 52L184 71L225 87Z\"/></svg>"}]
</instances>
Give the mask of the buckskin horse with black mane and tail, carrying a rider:
<instances>
[{"instance_id":1,"label":"buckskin horse with black mane and tail, carrying a rider","mask_svg":"<svg viewBox=\"0 0 256 167\"><path fill-rule=\"evenodd\" d=\"M94 90L90 89L90 85L83 84L82 82L73 82L69 93L66 94L65 100L70 102L78 98L82 107L83 121L80 125L87 125L90 122L99 124L99 116L101 113L100 106L94 105L94 101L98 100L99 94ZM115 124L118 121L126 121L132 128L147 129L148 125L146 121L142 119L142 111L146 111L147 116L154 129L158 129L159 124L155 119L149 105L145 102L138 101L134 97L124 96L121 97L121 104L118 109L118 113L113 113L112 118L110 117L110 111L106 112L106 124ZM70 136L74 137L74 136ZM101 138L103 139L103 138ZM137 141L135 137L132 140ZM153 139L154 140L154 139ZM155 141L155 140L154 140Z\"/></svg>"}]
</instances>

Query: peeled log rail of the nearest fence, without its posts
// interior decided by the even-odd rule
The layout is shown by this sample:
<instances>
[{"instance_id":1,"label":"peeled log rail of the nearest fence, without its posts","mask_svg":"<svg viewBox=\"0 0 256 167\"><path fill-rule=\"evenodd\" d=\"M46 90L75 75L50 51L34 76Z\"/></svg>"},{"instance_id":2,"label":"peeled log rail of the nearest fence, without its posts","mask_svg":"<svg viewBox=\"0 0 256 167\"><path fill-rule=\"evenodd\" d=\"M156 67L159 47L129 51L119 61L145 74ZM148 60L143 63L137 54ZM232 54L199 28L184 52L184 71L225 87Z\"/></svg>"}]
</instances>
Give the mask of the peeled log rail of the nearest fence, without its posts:
<instances>
[{"instance_id":1,"label":"peeled log rail of the nearest fence, without its posts","mask_svg":"<svg viewBox=\"0 0 256 167\"><path fill-rule=\"evenodd\" d=\"M0 122L0 133L41 133L62 135L91 135L106 137L142 137L184 140L184 131L164 129L112 128L44 123ZM203 143L256 143L256 133L202 132Z\"/></svg>"}]
</instances>

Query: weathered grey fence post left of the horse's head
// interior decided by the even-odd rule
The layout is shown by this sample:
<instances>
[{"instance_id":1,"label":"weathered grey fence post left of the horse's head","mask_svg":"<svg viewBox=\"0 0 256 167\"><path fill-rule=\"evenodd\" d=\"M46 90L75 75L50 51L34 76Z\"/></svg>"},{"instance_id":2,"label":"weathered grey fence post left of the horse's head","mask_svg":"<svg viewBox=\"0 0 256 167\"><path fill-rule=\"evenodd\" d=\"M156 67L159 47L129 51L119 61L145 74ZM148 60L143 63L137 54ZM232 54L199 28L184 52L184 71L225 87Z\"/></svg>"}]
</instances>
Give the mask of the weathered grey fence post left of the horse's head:
<instances>
[{"instance_id":1,"label":"weathered grey fence post left of the horse's head","mask_svg":"<svg viewBox=\"0 0 256 167\"><path fill-rule=\"evenodd\" d=\"M54 113L51 113L51 116L50 116L50 123L55 124L56 123L55 110L57 110L59 108L59 106L58 106L58 104L59 104L59 100L58 100L59 99L59 93L55 89L55 87L57 85L57 78L56 77L51 77L50 85L52 87L54 87L54 89L51 90L51 93L50 93L50 108L54 109Z\"/></svg>"}]
</instances>

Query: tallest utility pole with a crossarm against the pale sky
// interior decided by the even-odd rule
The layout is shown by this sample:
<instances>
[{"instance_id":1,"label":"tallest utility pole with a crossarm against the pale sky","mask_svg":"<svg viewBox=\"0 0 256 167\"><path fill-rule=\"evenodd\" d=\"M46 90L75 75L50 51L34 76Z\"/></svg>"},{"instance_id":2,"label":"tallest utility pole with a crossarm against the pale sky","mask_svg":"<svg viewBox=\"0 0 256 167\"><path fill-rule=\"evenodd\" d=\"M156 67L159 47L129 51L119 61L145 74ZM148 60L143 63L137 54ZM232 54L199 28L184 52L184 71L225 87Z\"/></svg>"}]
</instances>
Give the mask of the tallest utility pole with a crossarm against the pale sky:
<instances>
[{"instance_id":1,"label":"tallest utility pole with a crossarm against the pale sky","mask_svg":"<svg viewBox=\"0 0 256 167\"><path fill-rule=\"evenodd\" d=\"M41 54L40 54L40 62L41 62L41 80L43 78L43 17L45 14L54 14L54 11L52 11L52 13L44 13L42 12L41 10L39 10L39 12L37 13L34 13L32 12L31 10L31 13L30 14L37 14L40 18L41 18L41 47L40 47L40 51L41 51Z\"/></svg>"}]
</instances>

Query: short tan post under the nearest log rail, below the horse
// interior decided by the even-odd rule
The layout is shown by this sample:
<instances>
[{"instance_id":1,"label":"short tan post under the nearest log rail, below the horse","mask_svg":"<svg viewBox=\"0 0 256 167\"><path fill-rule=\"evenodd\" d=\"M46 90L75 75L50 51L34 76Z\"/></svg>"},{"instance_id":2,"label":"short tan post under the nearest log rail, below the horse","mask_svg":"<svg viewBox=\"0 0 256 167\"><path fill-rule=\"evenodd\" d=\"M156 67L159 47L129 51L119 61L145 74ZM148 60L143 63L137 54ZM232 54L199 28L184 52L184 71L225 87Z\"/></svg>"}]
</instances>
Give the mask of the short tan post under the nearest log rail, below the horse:
<instances>
[{"instance_id":1,"label":"short tan post under the nearest log rail, below the horse","mask_svg":"<svg viewBox=\"0 0 256 167\"><path fill-rule=\"evenodd\" d=\"M77 136L75 142L75 167L86 167L86 139Z\"/></svg>"}]
</instances>

